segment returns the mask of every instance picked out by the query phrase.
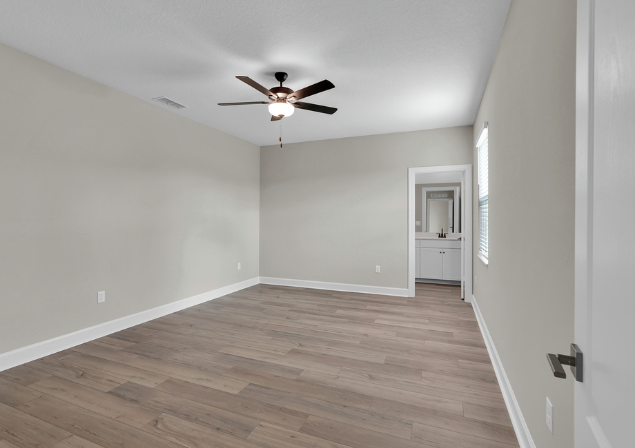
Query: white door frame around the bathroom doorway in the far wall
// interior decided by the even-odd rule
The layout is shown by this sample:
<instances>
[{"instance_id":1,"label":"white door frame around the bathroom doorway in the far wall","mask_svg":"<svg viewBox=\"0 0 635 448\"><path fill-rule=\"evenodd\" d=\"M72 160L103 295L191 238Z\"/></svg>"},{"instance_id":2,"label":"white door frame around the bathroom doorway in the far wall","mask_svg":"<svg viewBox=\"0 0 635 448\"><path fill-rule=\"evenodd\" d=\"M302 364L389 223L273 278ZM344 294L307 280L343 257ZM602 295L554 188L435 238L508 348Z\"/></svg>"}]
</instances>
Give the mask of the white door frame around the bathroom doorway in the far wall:
<instances>
[{"instance_id":1,"label":"white door frame around the bathroom doorway in the far wall","mask_svg":"<svg viewBox=\"0 0 635 448\"><path fill-rule=\"evenodd\" d=\"M415 296L415 179L416 174L460 172L461 181L461 230L463 236L463 269L465 301L472 297L472 165L444 165L408 168L408 296Z\"/></svg>"}]
</instances>

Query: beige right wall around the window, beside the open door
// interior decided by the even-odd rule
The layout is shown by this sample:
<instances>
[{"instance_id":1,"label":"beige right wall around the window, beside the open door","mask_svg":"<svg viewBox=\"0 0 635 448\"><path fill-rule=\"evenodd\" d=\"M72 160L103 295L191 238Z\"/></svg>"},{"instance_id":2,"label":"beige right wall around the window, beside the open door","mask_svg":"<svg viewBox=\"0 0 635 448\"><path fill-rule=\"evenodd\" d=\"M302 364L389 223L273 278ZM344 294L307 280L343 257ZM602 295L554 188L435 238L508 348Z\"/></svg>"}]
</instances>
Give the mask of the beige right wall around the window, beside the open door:
<instances>
[{"instance_id":1,"label":"beige right wall around the window, beside the open door","mask_svg":"<svg viewBox=\"0 0 635 448\"><path fill-rule=\"evenodd\" d=\"M474 124L476 142L489 121L489 266L474 257L474 296L541 448L574 446L574 381L545 355L574 342L575 86L576 1L512 0Z\"/></svg>"}]
</instances>

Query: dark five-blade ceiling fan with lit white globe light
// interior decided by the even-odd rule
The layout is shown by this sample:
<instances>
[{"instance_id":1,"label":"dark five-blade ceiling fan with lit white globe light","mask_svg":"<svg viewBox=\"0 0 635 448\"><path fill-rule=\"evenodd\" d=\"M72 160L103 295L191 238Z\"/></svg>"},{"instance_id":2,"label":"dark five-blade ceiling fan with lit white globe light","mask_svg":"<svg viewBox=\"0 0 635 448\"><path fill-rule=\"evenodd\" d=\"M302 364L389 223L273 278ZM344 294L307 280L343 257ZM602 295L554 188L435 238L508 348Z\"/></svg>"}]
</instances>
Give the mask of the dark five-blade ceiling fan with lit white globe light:
<instances>
[{"instance_id":1,"label":"dark five-blade ceiling fan with lit white globe light","mask_svg":"<svg viewBox=\"0 0 635 448\"><path fill-rule=\"evenodd\" d=\"M286 81L287 74L285 72L275 72L275 79L280 83L280 87L273 87L271 89L264 88L248 77L237 77L240 81L251 85L259 92L264 93L271 99L271 101L250 101L248 103L218 103L218 105L243 105L243 104L268 104L269 113L271 113L271 121L282 120L284 116L293 115L295 109L313 110L313 112L322 112L322 114L334 114L337 109L329 108L326 105L304 103L297 101L299 99L306 98L306 96L315 95L316 93L324 92L335 87L331 81L324 79L319 83L309 85L304 89L296 90L293 92L288 87L282 87L282 83ZM291 102L293 101L293 102Z\"/></svg>"}]
</instances>

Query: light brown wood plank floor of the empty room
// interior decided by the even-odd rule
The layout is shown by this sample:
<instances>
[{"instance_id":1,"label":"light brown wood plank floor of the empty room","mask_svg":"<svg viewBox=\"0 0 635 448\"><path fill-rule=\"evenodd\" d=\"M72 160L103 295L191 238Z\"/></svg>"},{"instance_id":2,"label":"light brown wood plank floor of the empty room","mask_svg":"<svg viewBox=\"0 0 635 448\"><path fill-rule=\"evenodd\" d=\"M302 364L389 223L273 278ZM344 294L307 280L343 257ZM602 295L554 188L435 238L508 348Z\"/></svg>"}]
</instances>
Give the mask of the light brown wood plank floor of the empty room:
<instances>
[{"instance_id":1,"label":"light brown wood plank floor of the empty room","mask_svg":"<svg viewBox=\"0 0 635 448\"><path fill-rule=\"evenodd\" d=\"M257 285L0 372L0 448L518 447L460 289Z\"/></svg>"}]
</instances>

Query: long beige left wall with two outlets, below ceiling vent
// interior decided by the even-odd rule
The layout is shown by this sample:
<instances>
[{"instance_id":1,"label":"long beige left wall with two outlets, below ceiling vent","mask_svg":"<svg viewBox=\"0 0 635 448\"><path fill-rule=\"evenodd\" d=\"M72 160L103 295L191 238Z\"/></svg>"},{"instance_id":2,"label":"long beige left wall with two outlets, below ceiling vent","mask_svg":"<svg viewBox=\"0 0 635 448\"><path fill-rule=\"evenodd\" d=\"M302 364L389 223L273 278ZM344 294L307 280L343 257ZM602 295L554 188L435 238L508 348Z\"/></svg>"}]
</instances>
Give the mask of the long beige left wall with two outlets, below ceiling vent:
<instances>
[{"instance_id":1,"label":"long beige left wall with two outlets, below ceiling vent","mask_svg":"<svg viewBox=\"0 0 635 448\"><path fill-rule=\"evenodd\" d=\"M0 79L0 353L258 276L259 147L4 45Z\"/></svg>"}]
</instances>

